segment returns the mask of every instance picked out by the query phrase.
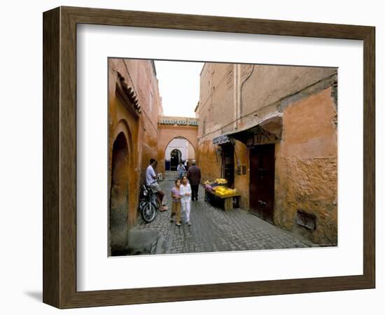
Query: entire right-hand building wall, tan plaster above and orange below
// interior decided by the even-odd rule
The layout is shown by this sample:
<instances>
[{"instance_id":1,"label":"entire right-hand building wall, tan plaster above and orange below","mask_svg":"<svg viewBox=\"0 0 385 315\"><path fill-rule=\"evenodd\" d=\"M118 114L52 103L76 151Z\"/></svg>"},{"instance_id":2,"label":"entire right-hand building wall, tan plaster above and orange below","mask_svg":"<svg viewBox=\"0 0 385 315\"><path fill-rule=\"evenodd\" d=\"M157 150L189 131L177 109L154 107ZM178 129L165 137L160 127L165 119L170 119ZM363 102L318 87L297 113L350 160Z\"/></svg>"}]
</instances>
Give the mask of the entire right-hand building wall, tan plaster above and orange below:
<instances>
[{"instance_id":1,"label":"entire right-hand building wall, tan plaster above and orange below","mask_svg":"<svg viewBox=\"0 0 385 315\"><path fill-rule=\"evenodd\" d=\"M237 78L238 76L238 78ZM283 115L275 144L274 223L318 244L337 244L337 69L212 64L201 73L198 153L203 179L221 176L213 138ZM246 166L238 175L237 167ZM235 187L249 203L249 150L235 141ZM317 218L310 232L295 223L301 209Z\"/></svg>"}]
</instances>

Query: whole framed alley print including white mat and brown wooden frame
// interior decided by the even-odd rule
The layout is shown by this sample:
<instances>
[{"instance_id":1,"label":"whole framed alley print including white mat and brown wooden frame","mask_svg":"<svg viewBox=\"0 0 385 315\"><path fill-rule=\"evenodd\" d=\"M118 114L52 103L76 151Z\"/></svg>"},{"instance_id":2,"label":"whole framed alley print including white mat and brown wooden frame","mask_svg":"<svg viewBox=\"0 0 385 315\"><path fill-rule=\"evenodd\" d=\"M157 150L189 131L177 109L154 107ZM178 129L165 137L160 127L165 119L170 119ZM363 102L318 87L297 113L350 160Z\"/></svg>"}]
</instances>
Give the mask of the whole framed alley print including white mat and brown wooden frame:
<instances>
[{"instance_id":1,"label":"whole framed alley print including white mat and brown wooden frame","mask_svg":"<svg viewBox=\"0 0 385 315\"><path fill-rule=\"evenodd\" d=\"M43 302L374 288L374 27L43 13Z\"/></svg>"}]
</instances>

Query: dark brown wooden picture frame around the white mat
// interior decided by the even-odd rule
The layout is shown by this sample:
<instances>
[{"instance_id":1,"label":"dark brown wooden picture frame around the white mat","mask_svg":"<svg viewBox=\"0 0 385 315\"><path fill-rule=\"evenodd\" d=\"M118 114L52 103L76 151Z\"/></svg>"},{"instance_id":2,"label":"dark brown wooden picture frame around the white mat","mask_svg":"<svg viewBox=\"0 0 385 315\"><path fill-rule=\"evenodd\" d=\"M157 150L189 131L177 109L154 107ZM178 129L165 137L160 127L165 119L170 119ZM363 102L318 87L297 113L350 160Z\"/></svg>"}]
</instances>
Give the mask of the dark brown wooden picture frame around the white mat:
<instances>
[{"instance_id":1,"label":"dark brown wooden picture frame around the white mat","mask_svg":"<svg viewBox=\"0 0 385 315\"><path fill-rule=\"evenodd\" d=\"M363 41L363 274L121 290L76 290L76 25ZM43 13L43 302L59 308L353 290L375 286L374 27L59 7Z\"/></svg>"}]
</instances>

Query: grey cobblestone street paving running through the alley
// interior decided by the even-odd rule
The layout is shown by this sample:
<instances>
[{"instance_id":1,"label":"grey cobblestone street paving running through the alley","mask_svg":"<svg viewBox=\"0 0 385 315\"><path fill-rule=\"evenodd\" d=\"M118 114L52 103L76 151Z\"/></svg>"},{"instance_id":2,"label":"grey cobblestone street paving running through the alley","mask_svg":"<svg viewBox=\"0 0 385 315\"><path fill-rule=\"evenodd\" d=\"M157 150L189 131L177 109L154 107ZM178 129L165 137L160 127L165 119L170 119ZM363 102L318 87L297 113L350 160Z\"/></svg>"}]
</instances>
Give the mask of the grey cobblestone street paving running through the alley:
<instances>
[{"instance_id":1,"label":"grey cobblestone street paving running through the alley","mask_svg":"<svg viewBox=\"0 0 385 315\"><path fill-rule=\"evenodd\" d=\"M245 209L223 211L204 202L200 187L199 200L191 203L191 226L170 223L171 189L176 174L167 174L160 183L165 191L168 211L159 212L152 223L139 218L139 230L158 230L165 238L165 253L200 253L211 251L244 251L274 248L316 246L311 242L277 228Z\"/></svg>"}]
</instances>

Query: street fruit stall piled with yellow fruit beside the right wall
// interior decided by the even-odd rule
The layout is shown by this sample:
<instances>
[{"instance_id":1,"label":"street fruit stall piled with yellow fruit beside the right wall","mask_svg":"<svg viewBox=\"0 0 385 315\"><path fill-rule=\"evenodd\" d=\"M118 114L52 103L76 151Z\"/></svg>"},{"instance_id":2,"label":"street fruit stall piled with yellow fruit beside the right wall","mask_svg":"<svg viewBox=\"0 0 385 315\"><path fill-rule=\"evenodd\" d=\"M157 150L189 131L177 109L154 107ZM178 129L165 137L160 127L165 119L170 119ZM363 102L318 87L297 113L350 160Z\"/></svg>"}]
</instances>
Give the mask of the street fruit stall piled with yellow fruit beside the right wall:
<instances>
[{"instance_id":1,"label":"street fruit stall piled with yellow fruit beside the right wall","mask_svg":"<svg viewBox=\"0 0 385 315\"><path fill-rule=\"evenodd\" d=\"M228 181L216 179L213 182L204 181L204 200L213 207L222 208L225 211L239 208L239 198L241 195L237 189L226 187Z\"/></svg>"}]
</instances>

